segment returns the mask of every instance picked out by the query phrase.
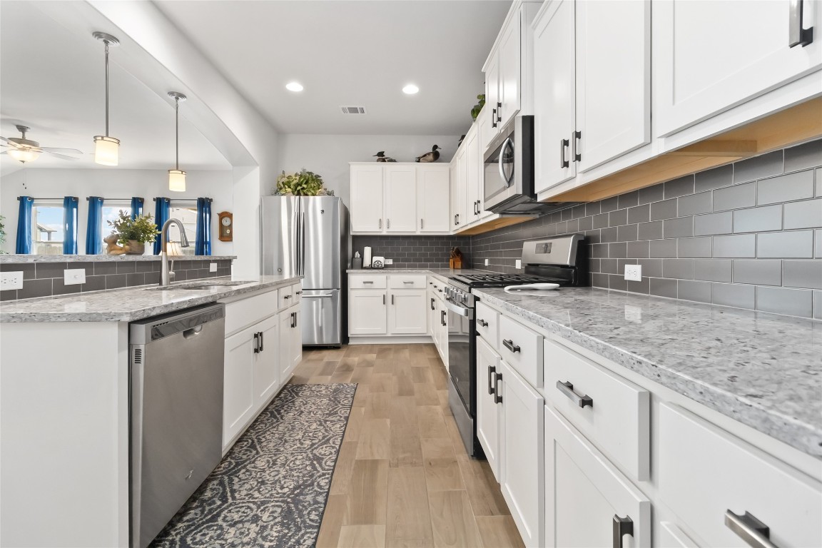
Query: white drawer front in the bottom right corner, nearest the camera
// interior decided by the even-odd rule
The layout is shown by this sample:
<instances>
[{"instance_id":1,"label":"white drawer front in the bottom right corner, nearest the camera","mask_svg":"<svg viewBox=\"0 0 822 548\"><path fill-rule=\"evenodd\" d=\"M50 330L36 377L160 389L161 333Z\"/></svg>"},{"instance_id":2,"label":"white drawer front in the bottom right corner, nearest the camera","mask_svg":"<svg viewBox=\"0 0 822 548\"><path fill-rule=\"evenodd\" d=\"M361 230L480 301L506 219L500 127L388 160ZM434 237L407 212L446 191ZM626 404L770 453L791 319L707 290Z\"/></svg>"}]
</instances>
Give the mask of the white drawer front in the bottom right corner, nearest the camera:
<instances>
[{"instance_id":1,"label":"white drawer front in the bottom right corner, nearest the camera","mask_svg":"<svg viewBox=\"0 0 822 548\"><path fill-rule=\"evenodd\" d=\"M685 409L659 406L659 497L708 546L747 546L750 513L776 546L822 546L822 485Z\"/></svg>"}]
</instances>

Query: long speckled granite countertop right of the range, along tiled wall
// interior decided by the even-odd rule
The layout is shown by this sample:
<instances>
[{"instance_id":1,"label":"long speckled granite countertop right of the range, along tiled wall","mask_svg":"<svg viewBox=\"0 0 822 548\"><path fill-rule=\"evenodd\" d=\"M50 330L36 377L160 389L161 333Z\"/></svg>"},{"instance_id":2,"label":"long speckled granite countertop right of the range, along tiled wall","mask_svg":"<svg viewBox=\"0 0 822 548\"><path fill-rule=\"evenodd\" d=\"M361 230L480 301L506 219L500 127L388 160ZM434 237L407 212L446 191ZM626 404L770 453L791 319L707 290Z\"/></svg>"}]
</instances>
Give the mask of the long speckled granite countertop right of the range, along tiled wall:
<instances>
[{"instance_id":1,"label":"long speckled granite countertop right of the range, along tiled wall","mask_svg":"<svg viewBox=\"0 0 822 548\"><path fill-rule=\"evenodd\" d=\"M474 293L822 458L822 322L598 288Z\"/></svg>"}]
</instances>

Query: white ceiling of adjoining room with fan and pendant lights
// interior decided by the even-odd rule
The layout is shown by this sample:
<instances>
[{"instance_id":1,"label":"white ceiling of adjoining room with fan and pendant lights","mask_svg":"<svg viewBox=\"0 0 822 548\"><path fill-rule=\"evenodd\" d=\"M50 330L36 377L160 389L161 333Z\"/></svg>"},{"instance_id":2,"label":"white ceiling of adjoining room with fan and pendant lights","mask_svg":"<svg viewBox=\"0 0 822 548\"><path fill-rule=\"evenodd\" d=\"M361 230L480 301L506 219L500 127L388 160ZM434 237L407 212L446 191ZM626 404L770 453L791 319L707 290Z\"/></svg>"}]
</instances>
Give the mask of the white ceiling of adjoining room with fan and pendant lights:
<instances>
[{"instance_id":1,"label":"white ceiling of adjoining room with fan and pendant lights","mask_svg":"<svg viewBox=\"0 0 822 548\"><path fill-rule=\"evenodd\" d=\"M92 28L82 17L58 22L46 14L47 5L53 8L54 3L0 2L0 135L20 136L15 125L21 124L30 127L27 138L41 146L85 153L75 161L40 154L25 168L116 169L94 162L92 139L104 133L105 118L104 48L91 31L112 30ZM85 5L56 3L64 8L76 4L77 9ZM122 48L111 48L110 53L109 134L122 141L118 168L173 168L173 100L165 95L169 90L152 90L123 70L117 62L120 52ZM230 169L215 146L187 121L186 105L180 106L180 168ZM3 174L21 167L7 154L0 155Z\"/></svg>"}]
</instances>

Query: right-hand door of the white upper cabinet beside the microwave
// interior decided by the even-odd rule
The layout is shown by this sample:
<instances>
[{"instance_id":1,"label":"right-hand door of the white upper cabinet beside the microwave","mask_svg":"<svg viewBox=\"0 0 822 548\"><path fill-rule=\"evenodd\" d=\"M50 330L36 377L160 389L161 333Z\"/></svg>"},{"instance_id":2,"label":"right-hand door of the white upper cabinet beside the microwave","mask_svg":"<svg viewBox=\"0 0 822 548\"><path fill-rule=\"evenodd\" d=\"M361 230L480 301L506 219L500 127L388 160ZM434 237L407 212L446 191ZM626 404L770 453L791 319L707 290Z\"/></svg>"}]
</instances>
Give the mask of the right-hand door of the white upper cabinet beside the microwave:
<instances>
[{"instance_id":1,"label":"right-hand door of the white upper cabinet beside the microwave","mask_svg":"<svg viewBox=\"0 0 822 548\"><path fill-rule=\"evenodd\" d=\"M651 4L575 6L578 169L584 172L650 142Z\"/></svg>"}]
</instances>

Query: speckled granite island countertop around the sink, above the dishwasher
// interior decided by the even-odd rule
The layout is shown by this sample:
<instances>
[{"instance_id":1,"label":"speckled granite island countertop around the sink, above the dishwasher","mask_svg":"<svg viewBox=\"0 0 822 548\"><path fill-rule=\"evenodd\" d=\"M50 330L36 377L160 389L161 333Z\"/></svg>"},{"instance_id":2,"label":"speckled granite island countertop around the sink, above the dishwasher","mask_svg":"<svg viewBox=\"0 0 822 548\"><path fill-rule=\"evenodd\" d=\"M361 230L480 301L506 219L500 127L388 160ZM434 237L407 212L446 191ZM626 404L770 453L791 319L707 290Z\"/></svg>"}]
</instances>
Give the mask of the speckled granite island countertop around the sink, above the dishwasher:
<instances>
[{"instance_id":1,"label":"speckled granite island countertop around the sink, above the dishwasher","mask_svg":"<svg viewBox=\"0 0 822 548\"><path fill-rule=\"evenodd\" d=\"M109 289L59 297L39 297L0 303L0 322L49 321L134 321L242 295L260 289L277 288L298 282L301 277L224 276L172 284L160 290L156 285ZM197 283L247 282L229 288L183 289Z\"/></svg>"}]
</instances>

